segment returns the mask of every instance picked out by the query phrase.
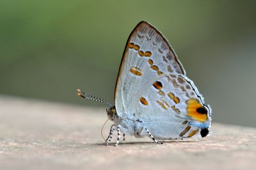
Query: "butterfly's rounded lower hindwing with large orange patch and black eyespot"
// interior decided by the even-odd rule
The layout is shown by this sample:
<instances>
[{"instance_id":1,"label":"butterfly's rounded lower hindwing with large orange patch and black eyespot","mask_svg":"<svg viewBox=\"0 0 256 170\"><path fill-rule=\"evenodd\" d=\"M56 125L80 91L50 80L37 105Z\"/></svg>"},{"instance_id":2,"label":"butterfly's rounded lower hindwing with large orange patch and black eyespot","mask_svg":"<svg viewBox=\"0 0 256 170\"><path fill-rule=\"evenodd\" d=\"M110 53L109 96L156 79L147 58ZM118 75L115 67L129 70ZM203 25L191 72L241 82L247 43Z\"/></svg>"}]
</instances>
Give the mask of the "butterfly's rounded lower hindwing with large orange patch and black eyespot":
<instances>
[{"instance_id":1,"label":"butterfly's rounded lower hindwing with large orange patch and black eyespot","mask_svg":"<svg viewBox=\"0 0 256 170\"><path fill-rule=\"evenodd\" d=\"M157 139L190 138L198 132L204 137L211 127L210 106L205 105L193 81L182 74L159 76L134 99L132 113Z\"/></svg>"}]
</instances>

